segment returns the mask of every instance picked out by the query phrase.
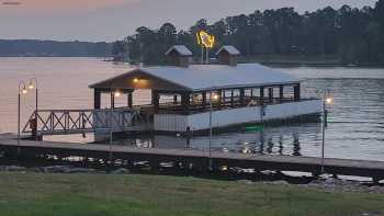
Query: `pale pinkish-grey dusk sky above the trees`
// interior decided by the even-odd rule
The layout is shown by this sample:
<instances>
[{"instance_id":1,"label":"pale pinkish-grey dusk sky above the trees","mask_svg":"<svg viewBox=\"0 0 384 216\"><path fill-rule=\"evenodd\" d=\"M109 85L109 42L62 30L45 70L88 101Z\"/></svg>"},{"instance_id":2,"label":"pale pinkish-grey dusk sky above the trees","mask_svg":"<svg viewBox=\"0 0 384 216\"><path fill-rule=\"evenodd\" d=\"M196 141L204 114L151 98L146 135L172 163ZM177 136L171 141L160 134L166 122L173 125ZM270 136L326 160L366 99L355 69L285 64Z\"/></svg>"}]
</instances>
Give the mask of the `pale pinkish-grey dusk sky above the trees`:
<instances>
[{"instance_id":1,"label":"pale pinkish-grey dusk sky above the trees","mask_svg":"<svg viewBox=\"0 0 384 216\"><path fill-rule=\"evenodd\" d=\"M294 7L298 12L327 5L373 7L376 0L0 0L0 38L112 42L139 26L171 22L188 29L204 18Z\"/></svg>"}]
</instances>

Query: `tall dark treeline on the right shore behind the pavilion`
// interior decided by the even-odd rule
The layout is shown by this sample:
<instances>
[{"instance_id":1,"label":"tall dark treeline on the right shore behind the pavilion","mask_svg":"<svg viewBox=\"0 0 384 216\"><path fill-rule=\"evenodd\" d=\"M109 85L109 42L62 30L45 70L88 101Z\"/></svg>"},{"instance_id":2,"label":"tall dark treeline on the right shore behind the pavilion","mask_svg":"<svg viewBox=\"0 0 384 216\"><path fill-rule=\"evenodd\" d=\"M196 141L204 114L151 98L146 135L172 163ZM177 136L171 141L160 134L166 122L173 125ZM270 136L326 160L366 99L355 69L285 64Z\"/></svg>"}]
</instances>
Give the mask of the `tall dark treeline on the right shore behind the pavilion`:
<instances>
[{"instance_id":1,"label":"tall dark treeline on the right shore behind the pavilion","mask_svg":"<svg viewBox=\"0 0 384 216\"><path fill-rule=\"evenodd\" d=\"M200 30L216 36L216 49L225 44L235 45L249 58L332 56L345 64L384 64L384 0L374 8L327 7L304 14L293 8L255 11L213 24L200 20L187 31L178 31L171 23L158 30L142 26L135 35L115 42L112 52L147 64L165 62L163 53L174 44L184 44L199 55L195 33Z\"/></svg>"}]
</instances>

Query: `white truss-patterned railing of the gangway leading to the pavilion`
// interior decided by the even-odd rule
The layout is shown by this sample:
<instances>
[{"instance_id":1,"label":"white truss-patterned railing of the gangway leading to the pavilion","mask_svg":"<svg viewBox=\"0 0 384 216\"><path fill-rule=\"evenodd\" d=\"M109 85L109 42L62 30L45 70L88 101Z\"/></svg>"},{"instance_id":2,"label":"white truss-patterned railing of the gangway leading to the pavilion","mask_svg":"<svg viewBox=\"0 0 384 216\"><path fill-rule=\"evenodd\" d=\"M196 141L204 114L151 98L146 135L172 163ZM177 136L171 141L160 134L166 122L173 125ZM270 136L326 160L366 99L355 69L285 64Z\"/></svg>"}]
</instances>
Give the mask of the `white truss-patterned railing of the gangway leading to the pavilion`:
<instances>
[{"instance_id":1,"label":"white truss-patterned railing of the gangway leading to the pavilion","mask_svg":"<svg viewBox=\"0 0 384 216\"><path fill-rule=\"evenodd\" d=\"M35 135L128 132L145 126L139 112L114 110L38 110L23 128Z\"/></svg>"}]
</instances>

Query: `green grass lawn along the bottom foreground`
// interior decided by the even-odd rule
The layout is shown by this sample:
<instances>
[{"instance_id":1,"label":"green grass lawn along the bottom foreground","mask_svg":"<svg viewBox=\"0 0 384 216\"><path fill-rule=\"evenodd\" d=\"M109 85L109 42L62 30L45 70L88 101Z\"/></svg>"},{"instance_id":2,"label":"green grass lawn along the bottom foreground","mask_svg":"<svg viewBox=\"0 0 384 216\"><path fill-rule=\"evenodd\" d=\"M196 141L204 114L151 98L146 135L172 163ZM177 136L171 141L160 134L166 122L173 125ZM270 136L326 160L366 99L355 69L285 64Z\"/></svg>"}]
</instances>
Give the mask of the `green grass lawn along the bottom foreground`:
<instances>
[{"instance_id":1,"label":"green grass lawn along the bottom foreground","mask_svg":"<svg viewBox=\"0 0 384 216\"><path fill-rule=\"evenodd\" d=\"M361 215L384 195L195 178L0 173L1 216Z\"/></svg>"}]
</instances>

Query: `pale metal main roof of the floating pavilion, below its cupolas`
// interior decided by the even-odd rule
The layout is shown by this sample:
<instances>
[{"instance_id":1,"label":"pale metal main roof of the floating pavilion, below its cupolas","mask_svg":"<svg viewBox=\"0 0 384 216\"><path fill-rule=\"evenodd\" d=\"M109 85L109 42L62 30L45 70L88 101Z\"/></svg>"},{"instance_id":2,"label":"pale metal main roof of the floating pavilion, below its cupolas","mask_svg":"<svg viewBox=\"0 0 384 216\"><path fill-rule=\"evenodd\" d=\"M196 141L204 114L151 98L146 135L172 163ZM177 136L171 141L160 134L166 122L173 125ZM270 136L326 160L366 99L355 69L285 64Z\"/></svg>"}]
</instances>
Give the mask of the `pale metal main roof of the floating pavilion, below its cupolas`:
<instances>
[{"instance_id":1,"label":"pale metal main roof of the floating pavilion, below its cupolas","mask_svg":"<svg viewBox=\"0 0 384 216\"><path fill-rule=\"evenodd\" d=\"M192 65L189 68L165 66L137 68L122 76L95 83L90 88L108 88L112 80L118 82L116 88L135 89L132 79L145 75L151 79L153 89L180 91L210 91L246 87L294 84L300 80L259 64L239 64L237 67L225 65ZM131 80L129 80L131 79ZM151 89L151 88L149 88Z\"/></svg>"}]
</instances>

